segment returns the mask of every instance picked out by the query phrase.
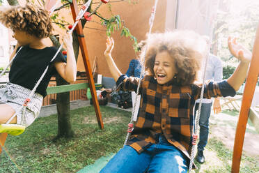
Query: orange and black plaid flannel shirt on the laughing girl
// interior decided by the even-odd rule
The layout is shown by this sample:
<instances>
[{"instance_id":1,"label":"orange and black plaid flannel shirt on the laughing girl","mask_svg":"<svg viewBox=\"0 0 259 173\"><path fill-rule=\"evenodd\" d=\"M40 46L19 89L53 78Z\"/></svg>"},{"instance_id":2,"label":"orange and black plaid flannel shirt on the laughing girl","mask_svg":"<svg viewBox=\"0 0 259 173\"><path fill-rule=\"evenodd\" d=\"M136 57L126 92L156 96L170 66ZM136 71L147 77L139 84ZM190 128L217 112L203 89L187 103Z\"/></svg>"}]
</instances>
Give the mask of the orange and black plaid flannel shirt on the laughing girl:
<instances>
[{"instance_id":1,"label":"orange and black plaid flannel shirt on the laughing girl","mask_svg":"<svg viewBox=\"0 0 259 173\"><path fill-rule=\"evenodd\" d=\"M136 91L139 80L138 77L121 75L117 89ZM141 80L139 94L139 115L127 145L141 153L158 141L159 134L163 134L170 144L190 158L193 107L195 100L200 97L201 86L191 84L179 87L173 82L158 84L154 77L146 75ZM235 96L235 90L226 81L207 82L203 97L217 96Z\"/></svg>"}]
</instances>

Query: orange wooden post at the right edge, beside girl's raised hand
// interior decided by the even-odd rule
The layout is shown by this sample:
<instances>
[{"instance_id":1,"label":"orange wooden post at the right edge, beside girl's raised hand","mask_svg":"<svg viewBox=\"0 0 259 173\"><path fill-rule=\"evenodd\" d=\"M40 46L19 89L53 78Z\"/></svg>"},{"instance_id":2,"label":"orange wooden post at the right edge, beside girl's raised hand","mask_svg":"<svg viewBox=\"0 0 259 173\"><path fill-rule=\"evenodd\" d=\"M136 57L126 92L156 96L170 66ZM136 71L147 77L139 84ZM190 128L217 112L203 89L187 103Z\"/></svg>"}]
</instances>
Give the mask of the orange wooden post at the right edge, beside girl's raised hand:
<instances>
[{"instance_id":1,"label":"orange wooden post at the right edge, beside girl's raised hand","mask_svg":"<svg viewBox=\"0 0 259 173\"><path fill-rule=\"evenodd\" d=\"M253 100L253 93L256 89L256 82L259 74L259 27L256 31L256 40L253 45L253 56L250 63L249 73L246 77L240 117L237 122L235 132L235 143L233 149L232 173L240 172L240 161L244 144L244 134L246 132L246 123L249 118L249 110Z\"/></svg>"}]
</instances>

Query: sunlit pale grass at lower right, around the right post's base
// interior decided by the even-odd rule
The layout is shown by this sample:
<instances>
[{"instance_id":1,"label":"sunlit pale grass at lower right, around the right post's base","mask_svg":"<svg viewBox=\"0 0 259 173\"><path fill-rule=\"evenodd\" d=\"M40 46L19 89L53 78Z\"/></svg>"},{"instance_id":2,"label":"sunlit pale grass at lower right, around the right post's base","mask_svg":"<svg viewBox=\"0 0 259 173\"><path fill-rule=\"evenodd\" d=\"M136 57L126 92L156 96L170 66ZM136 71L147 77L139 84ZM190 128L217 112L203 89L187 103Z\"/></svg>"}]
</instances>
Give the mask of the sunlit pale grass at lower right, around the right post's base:
<instances>
[{"instance_id":1,"label":"sunlit pale grass at lower right, around the right post's base","mask_svg":"<svg viewBox=\"0 0 259 173\"><path fill-rule=\"evenodd\" d=\"M223 114L228 114L229 116L235 116L238 119L239 113L235 110L223 110ZM251 121L248 121L248 124L250 126L253 126L253 123ZM224 128L226 126L231 126L233 129L236 128L237 124L233 121L217 121L216 124L210 124L210 127L212 126L220 126L221 128ZM211 128L210 128L210 136L211 136ZM250 130L246 128L246 133L251 134L258 134L255 130ZM213 153L209 156L207 155L207 158L205 157L205 163L202 165L198 163L195 160L195 164L198 167L198 169L195 172L206 172L206 173L222 173L222 172L231 172L231 165L232 165L232 157L233 157L233 151L228 149L221 140L217 137L211 137L209 136L209 140L207 143L207 146L205 147L205 153L210 152ZM197 142L198 143L198 142ZM241 158L241 164L240 164L240 173L258 173L259 172L259 153L256 157L249 157L246 156L244 153L242 154Z\"/></svg>"}]
</instances>

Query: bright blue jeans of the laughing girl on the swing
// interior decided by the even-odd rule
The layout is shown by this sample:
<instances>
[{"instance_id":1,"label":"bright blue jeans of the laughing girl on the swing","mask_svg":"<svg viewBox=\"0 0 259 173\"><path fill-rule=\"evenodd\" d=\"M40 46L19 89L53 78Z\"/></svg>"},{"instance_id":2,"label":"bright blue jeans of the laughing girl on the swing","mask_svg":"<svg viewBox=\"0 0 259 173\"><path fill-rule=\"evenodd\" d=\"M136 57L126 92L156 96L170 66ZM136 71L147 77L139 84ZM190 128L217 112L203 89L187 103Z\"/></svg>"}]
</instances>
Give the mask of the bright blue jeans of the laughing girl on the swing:
<instances>
[{"instance_id":1,"label":"bright blue jeans of the laughing girl on the swing","mask_svg":"<svg viewBox=\"0 0 259 173\"><path fill-rule=\"evenodd\" d=\"M101 173L171 173L187 172L187 170L186 156L159 135L157 144L150 145L142 153L137 153L131 146L124 146L111 158Z\"/></svg>"}]
</instances>

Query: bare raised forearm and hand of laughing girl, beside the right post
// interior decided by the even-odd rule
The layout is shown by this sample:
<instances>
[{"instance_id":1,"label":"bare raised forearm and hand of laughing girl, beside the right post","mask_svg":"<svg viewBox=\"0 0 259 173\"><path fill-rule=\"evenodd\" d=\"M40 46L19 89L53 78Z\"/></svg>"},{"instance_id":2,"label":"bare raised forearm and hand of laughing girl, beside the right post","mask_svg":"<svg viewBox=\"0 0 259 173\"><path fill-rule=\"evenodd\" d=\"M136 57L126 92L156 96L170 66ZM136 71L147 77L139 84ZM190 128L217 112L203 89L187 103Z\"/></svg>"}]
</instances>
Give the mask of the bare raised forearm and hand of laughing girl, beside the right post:
<instances>
[{"instance_id":1,"label":"bare raised forearm and hand of laughing girl, beside the right post","mask_svg":"<svg viewBox=\"0 0 259 173\"><path fill-rule=\"evenodd\" d=\"M237 43L236 38L228 38L228 48L230 53L240 60L240 64L235 69L235 72L227 80L228 84L237 91L246 79L252 54L243 45Z\"/></svg>"}]
</instances>

